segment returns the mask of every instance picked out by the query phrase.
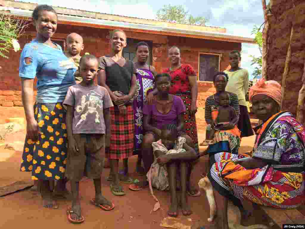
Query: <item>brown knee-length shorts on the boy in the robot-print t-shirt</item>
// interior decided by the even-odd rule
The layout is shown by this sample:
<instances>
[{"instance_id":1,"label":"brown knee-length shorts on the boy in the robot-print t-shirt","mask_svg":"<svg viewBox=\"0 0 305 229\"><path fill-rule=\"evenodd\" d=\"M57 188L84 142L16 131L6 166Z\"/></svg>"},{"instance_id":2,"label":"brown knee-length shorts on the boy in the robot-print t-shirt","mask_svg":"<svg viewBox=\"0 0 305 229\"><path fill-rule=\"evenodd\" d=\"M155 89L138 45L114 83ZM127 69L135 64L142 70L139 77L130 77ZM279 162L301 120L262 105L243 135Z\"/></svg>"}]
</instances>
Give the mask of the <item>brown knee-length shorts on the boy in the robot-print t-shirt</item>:
<instances>
[{"instance_id":1,"label":"brown knee-length shorts on the boy in the robot-print t-shirt","mask_svg":"<svg viewBox=\"0 0 305 229\"><path fill-rule=\"evenodd\" d=\"M105 134L74 134L78 155L68 152L66 177L80 181L83 176L101 177L105 159ZM69 144L69 143L68 143Z\"/></svg>"}]
</instances>

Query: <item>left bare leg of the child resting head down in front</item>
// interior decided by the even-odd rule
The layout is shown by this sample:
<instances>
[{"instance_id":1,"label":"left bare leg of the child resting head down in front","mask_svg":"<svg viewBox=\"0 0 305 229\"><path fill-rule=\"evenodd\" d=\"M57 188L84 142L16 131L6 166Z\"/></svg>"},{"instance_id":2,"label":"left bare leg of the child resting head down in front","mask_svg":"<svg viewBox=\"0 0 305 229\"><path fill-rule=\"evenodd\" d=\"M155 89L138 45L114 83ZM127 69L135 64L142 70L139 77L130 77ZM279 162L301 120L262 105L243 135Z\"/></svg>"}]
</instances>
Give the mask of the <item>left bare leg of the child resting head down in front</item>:
<instances>
[{"instance_id":1,"label":"left bare leg of the child resting head down in front","mask_svg":"<svg viewBox=\"0 0 305 229\"><path fill-rule=\"evenodd\" d=\"M170 185L170 209L168 215L178 216L178 199L177 199L177 163L167 163L168 181Z\"/></svg>"}]
</instances>

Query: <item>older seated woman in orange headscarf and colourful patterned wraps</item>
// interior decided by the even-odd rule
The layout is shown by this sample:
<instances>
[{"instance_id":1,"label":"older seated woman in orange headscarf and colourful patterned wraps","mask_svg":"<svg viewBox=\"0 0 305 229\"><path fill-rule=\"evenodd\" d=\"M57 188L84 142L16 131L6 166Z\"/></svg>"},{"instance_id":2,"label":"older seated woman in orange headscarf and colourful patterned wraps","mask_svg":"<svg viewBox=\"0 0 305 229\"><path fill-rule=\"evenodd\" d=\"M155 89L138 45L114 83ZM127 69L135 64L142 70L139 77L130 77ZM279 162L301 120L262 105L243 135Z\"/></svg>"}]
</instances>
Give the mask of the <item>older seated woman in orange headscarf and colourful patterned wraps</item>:
<instances>
[{"instance_id":1,"label":"older seated woman in orange headscarf and colourful patterned wraps","mask_svg":"<svg viewBox=\"0 0 305 229\"><path fill-rule=\"evenodd\" d=\"M255 128L251 156L222 152L210 157L207 177L217 206L217 228L228 228L232 196L282 209L296 208L305 200L305 131L290 112L281 111L281 91L278 82L264 78L249 91L253 112L263 121Z\"/></svg>"}]
</instances>

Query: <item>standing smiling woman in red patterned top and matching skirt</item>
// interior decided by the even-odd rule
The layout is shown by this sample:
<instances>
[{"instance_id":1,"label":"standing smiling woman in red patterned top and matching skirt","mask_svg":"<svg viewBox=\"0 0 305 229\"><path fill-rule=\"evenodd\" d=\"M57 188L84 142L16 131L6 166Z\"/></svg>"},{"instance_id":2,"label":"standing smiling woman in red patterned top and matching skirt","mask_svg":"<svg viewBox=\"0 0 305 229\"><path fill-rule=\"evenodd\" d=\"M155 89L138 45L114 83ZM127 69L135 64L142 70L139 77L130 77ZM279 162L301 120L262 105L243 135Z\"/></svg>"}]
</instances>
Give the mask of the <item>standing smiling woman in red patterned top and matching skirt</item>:
<instances>
[{"instance_id":1,"label":"standing smiling woman in red patterned top and matching skirt","mask_svg":"<svg viewBox=\"0 0 305 229\"><path fill-rule=\"evenodd\" d=\"M180 49L173 46L168 51L170 67L163 70L163 73L168 73L171 77L170 94L179 96L185 104L186 112L184 113L185 133L188 134L194 141L194 148L199 153L196 112L197 112L197 75L194 69L189 64L181 64ZM189 188L188 193L191 196L198 196L200 192Z\"/></svg>"}]
</instances>

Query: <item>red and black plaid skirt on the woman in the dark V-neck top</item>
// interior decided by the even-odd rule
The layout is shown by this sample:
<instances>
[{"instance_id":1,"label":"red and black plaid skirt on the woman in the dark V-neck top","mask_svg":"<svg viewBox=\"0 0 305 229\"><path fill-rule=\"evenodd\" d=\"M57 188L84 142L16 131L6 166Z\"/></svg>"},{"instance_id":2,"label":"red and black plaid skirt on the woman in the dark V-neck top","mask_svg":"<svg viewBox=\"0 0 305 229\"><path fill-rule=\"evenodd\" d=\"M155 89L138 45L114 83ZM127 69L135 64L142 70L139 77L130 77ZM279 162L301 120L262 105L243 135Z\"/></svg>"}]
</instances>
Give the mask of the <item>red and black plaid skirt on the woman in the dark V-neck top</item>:
<instances>
[{"instance_id":1,"label":"red and black plaid skirt on the woman in the dark V-neck top","mask_svg":"<svg viewBox=\"0 0 305 229\"><path fill-rule=\"evenodd\" d=\"M132 105L126 105L127 114L122 115L117 106L109 108L111 120L110 148L106 158L124 159L133 155L135 121Z\"/></svg>"}]
</instances>

